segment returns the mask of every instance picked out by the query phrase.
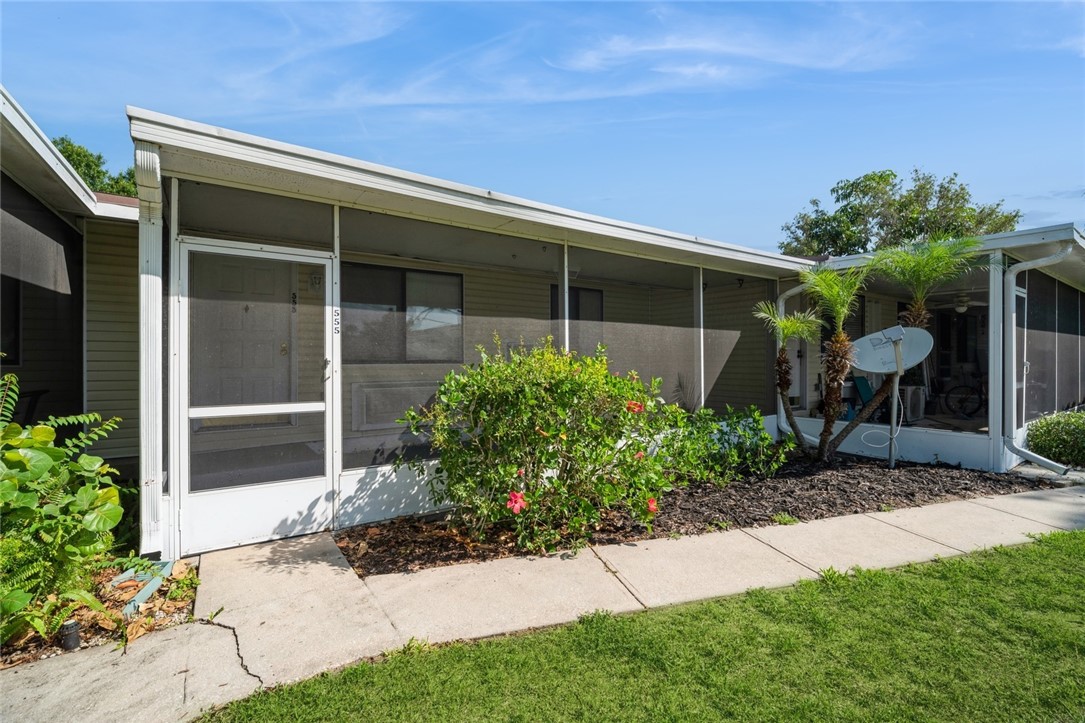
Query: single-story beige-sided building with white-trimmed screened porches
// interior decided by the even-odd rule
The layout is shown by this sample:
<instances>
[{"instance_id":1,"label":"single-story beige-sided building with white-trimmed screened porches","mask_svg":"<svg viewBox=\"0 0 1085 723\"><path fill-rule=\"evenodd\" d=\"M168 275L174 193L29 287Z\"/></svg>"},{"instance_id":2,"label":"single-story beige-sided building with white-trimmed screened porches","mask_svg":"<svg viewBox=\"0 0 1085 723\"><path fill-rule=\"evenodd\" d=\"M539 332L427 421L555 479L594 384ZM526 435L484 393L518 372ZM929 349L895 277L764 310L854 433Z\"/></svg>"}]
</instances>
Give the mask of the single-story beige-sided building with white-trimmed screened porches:
<instances>
[{"instance_id":1,"label":"single-story beige-sided building with white-trimmed screened porches","mask_svg":"<svg viewBox=\"0 0 1085 723\"><path fill-rule=\"evenodd\" d=\"M669 401L755 405L774 432L782 421L775 341L751 312L764 300L802 303L792 291L806 259L141 109L128 117L138 201L90 192L3 91L2 328L4 350L16 350L3 368L38 393L38 417L125 418L95 451L139 480L146 554L426 511L424 485L392 465L425 446L396 419L480 345L547 335L583 353L605 344L616 370L661 378ZM1027 368L1014 396L1024 401L1003 405L995 384L985 431L912 424L898 437L904 459L1007 469L1021 453L1004 436L1020 445L1027 421L1083 397L1082 232L1061 226L986 244L993 258L1050 263L1010 268L1008 314L993 263L953 289L969 294L975 320L950 315L935 333L949 340L950 376L968 355L990 356L993 380ZM871 287L856 331L894 324L899 301L899 290ZM1057 315L1031 310L1048 301ZM1017 343L996 363L1007 330ZM816 409L816 350L795 355L792 403L808 432L820 422L806 413ZM1048 363L1059 385L1033 403L1032 380ZM861 442L876 428L845 451L883 456Z\"/></svg>"}]
</instances>

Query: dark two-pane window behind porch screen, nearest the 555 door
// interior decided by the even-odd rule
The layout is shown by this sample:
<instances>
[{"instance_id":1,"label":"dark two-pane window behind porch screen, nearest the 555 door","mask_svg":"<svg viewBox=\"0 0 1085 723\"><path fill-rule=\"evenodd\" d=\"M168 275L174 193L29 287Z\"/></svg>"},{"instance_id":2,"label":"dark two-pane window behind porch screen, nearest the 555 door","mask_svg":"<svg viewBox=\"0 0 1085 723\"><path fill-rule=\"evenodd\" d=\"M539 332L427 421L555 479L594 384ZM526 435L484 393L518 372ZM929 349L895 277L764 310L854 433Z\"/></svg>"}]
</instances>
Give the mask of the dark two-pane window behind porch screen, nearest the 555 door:
<instances>
[{"instance_id":1,"label":"dark two-pane window behind porch screen, nearest the 555 door","mask_svg":"<svg viewBox=\"0 0 1085 723\"><path fill-rule=\"evenodd\" d=\"M463 277L342 266L343 362L463 360Z\"/></svg>"}]
</instances>

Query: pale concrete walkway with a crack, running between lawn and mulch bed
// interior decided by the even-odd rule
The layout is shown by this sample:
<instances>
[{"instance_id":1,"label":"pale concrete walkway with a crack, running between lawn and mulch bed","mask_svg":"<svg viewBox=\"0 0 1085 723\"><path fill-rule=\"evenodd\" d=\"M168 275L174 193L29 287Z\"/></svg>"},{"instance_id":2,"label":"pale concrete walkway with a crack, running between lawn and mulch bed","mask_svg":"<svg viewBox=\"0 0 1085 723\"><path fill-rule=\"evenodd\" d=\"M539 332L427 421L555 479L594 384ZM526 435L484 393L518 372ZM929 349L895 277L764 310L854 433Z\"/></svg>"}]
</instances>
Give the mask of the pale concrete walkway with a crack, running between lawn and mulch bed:
<instances>
[{"instance_id":1,"label":"pale concrete walkway with a crack, running between lawn and mulch bed","mask_svg":"<svg viewBox=\"0 0 1085 723\"><path fill-rule=\"evenodd\" d=\"M886 568L1085 529L1085 487L359 580L329 534L204 555L196 618L0 671L0 720L188 720L406 644L443 643Z\"/></svg>"}]
</instances>

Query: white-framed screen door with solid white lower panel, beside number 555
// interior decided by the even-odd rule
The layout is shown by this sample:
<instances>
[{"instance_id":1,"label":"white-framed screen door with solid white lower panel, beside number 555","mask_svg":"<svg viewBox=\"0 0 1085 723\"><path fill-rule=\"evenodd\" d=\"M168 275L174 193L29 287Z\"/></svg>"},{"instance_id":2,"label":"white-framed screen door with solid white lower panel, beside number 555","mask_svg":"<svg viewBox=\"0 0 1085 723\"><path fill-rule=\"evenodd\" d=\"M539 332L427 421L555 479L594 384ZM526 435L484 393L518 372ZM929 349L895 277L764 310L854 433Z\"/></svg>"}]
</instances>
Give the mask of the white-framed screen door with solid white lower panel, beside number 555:
<instances>
[{"instance_id":1,"label":"white-framed screen door with solid white lower panel, beside number 555","mask_svg":"<svg viewBox=\"0 0 1085 723\"><path fill-rule=\"evenodd\" d=\"M327 256L181 240L182 555L326 530Z\"/></svg>"}]
</instances>

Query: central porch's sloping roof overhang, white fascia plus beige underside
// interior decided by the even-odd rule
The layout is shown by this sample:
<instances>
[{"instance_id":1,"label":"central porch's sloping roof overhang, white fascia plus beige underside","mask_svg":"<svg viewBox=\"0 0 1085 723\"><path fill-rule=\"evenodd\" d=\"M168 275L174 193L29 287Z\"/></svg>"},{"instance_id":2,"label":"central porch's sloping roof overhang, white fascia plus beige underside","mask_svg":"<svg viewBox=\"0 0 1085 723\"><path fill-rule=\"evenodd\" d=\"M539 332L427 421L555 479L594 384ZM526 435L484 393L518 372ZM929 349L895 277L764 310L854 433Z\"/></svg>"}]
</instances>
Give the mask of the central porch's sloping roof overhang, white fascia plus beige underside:
<instances>
[{"instance_id":1,"label":"central porch's sloping roof overhang, white fascia plus beige underside","mask_svg":"<svg viewBox=\"0 0 1085 723\"><path fill-rule=\"evenodd\" d=\"M593 216L153 111L129 106L128 117L133 139L161 148L164 175L765 278L794 276L810 265L805 259Z\"/></svg>"}]
</instances>

